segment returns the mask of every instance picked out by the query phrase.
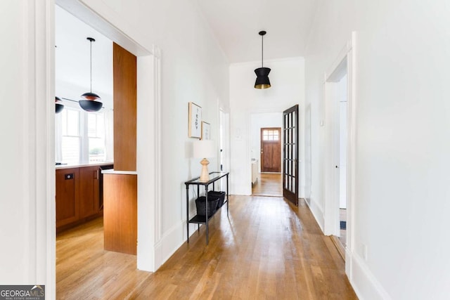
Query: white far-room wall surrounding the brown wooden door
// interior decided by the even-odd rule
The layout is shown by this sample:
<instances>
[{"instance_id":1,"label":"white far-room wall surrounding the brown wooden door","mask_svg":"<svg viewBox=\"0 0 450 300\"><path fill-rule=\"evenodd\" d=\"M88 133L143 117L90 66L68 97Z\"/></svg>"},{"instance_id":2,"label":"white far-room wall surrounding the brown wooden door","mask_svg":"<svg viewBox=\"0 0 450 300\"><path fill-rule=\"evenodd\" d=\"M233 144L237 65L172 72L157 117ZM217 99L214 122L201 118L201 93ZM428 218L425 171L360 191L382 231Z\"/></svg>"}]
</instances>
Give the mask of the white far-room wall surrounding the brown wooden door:
<instances>
[{"instance_id":1,"label":"white far-room wall surrounding the brown wooden door","mask_svg":"<svg viewBox=\"0 0 450 300\"><path fill-rule=\"evenodd\" d=\"M261 129L265 127L281 128L281 138L283 136L283 112L250 114L250 158L258 159L259 172L261 172ZM282 160L283 157L281 157L280 164Z\"/></svg>"}]
</instances>

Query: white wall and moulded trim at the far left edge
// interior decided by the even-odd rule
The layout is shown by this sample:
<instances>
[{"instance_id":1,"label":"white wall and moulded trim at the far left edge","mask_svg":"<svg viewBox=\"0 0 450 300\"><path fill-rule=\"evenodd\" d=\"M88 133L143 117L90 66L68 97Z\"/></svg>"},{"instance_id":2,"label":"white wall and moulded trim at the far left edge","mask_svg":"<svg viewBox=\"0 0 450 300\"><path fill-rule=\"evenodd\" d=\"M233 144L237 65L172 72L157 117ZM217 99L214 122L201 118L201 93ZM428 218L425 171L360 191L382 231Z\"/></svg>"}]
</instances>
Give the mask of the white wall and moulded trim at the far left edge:
<instances>
[{"instance_id":1,"label":"white wall and moulded trim at the far left edge","mask_svg":"<svg viewBox=\"0 0 450 300\"><path fill-rule=\"evenodd\" d=\"M0 282L55 297L54 72L51 1L0 1ZM49 80L52 79L52 80ZM53 201L52 201L53 200Z\"/></svg>"}]
</instances>

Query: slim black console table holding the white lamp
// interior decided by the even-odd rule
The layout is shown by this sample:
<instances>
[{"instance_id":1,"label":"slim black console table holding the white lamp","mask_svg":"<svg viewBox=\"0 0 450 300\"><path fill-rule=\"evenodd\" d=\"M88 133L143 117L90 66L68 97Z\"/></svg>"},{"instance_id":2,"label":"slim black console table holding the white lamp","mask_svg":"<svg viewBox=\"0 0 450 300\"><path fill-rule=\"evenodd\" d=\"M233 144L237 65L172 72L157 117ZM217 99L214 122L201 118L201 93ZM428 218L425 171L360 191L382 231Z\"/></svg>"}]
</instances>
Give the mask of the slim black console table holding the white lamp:
<instances>
[{"instance_id":1,"label":"slim black console table holding the white lamp","mask_svg":"<svg viewBox=\"0 0 450 300\"><path fill-rule=\"evenodd\" d=\"M217 211L214 212L211 216L208 216L208 186L212 184L212 190L214 190L214 183L221 178L226 177L226 199L224 200L224 204L226 203L226 216L229 215L229 190L228 190L228 176L229 172L211 172L210 180L206 182L200 181L200 177L194 178L190 181L186 181L184 184L186 185L186 228L188 232L188 242L189 242L189 223L197 223L197 224L205 224L206 226L206 244L209 242L208 237L208 221L216 214ZM191 185L197 185L197 197L200 197L200 185L205 187L205 205L206 205L206 216L195 215L192 219L189 219L189 187ZM224 206L222 204L222 207Z\"/></svg>"}]
</instances>

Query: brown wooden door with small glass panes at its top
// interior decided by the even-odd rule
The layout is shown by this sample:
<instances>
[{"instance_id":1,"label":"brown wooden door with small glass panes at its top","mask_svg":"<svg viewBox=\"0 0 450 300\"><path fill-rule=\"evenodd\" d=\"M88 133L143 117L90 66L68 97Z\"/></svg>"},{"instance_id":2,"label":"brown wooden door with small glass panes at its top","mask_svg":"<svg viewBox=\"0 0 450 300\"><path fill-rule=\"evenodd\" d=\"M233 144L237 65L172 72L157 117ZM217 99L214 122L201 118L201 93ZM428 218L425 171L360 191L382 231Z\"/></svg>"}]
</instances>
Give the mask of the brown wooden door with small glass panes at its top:
<instances>
[{"instance_id":1,"label":"brown wooden door with small glass panes at its top","mask_svg":"<svg viewBox=\"0 0 450 300\"><path fill-rule=\"evenodd\" d=\"M281 128L261 129L261 171L281 172Z\"/></svg>"}]
</instances>

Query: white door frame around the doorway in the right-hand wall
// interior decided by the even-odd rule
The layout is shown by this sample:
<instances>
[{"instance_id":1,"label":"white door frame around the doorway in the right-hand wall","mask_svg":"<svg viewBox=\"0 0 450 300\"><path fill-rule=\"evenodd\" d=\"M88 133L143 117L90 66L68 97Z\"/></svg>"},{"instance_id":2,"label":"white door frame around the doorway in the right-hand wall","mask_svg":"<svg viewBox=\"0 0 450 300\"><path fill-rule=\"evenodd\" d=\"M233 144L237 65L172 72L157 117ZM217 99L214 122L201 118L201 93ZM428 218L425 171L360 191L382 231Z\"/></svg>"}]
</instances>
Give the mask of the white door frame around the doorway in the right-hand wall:
<instances>
[{"instance_id":1,"label":"white door frame around the doorway in the right-hand wall","mask_svg":"<svg viewBox=\"0 0 450 300\"><path fill-rule=\"evenodd\" d=\"M339 186L338 165L339 143L336 136L338 119L338 101L335 97L336 82L347 72L347 241L345 247L346 272L351 270L350 255L354 250L354 201L355 201L355 149L356 149L356 99L355 99L355 42L356 33L340 51L335 63L325 73L323 84L325 94L326 118L326 156L325 156L325 207L324 234L339 235Z\"/></svg>"}]
</instances>

